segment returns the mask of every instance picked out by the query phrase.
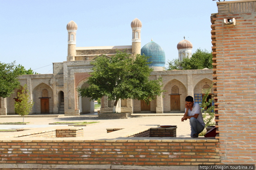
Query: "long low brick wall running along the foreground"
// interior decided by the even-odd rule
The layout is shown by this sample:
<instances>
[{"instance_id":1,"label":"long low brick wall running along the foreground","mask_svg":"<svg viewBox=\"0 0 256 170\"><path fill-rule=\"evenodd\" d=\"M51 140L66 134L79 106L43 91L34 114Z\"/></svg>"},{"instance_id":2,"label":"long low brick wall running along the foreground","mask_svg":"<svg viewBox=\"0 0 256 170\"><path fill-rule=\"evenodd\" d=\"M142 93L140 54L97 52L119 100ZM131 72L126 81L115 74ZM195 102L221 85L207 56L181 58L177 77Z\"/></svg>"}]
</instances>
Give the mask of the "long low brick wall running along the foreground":
<instances>
[{"instance_id":1,"label":"long low brick wall running along the foreground","mask_svg":"<svg viewBox=\"0 0 256 170\"><path fill-rule=\"evenodd\" d=\"M217 139L1 140L0 169L66 165L197 166L220 163ZM84 166L85 168L86 166ZM75 167L74 167L75 168ZM93 169L93 168L92 168Z\"/></svg>"}]
</instances>

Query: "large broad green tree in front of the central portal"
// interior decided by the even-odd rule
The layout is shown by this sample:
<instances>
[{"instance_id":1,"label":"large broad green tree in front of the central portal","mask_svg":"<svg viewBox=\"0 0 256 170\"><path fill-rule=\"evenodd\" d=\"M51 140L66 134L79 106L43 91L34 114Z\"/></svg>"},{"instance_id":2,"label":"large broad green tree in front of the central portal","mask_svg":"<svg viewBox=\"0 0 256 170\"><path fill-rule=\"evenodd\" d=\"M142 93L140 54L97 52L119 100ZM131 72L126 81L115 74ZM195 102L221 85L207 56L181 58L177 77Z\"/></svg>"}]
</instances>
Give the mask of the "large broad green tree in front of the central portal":
<instances>
[{"instance_id":1,"label":"large broad green tree in front of the central portal","mask_svg":"<svg viewBox=\"0 0 256 170\"><path fill-rule=\"evenodd\" d=\"M109 59L99 56L92 61L93 72L88 78L89 87L77 89L80 96L98 99L107 96L108 100L115 100L113 113L119 99L138 99L147 103L160 96L163 92L161 78L149 80L153 71L147 64L148 57L145 55L131 54L117 51Z\"/></svg>"}]
</instances>

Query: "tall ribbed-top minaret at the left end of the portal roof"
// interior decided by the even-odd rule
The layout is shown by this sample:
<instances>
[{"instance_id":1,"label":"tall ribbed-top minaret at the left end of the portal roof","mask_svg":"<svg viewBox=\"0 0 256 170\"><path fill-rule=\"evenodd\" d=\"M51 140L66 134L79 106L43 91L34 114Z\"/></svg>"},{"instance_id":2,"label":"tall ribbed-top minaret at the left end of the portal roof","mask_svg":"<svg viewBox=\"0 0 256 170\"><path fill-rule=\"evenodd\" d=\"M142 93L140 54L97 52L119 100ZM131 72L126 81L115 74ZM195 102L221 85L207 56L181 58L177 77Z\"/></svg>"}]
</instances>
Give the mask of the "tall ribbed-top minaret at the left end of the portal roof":
<instances>
[{"instance_id":1,"label":"tall ribbed-top minaret at the left end of the portal roof","mask_svg":"<svg viewBox=\"0 0 256 170\"><path fill-rule=\"evenodd\" d=\"M76 56L76 30L77 25L74 21L67 24L68 30L68 56L67 61L75 61Z\"/></svg>"}]
</instances>

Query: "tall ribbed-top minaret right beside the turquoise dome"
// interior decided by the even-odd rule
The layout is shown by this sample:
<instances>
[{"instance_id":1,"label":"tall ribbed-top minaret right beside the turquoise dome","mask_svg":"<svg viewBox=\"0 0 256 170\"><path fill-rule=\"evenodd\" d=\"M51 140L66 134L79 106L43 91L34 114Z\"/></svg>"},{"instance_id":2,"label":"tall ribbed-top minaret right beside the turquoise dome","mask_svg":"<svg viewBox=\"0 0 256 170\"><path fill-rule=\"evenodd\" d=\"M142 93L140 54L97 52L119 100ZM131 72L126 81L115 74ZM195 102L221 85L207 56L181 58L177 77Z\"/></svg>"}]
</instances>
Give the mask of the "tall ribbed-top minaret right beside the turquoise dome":
<instances>
[{"instance_id":1,"label":"tall ribbed-top minaret right beside the turquoise dome","mask_svg":"<svg viewBox=\"0 0 256 170\"><path fill-rule=\"evenodd\" d=\"M140 54L140 30L141 30L141 22L138 18L135 18L132 23L132 54Z\"/></svg>"}]
</instances>

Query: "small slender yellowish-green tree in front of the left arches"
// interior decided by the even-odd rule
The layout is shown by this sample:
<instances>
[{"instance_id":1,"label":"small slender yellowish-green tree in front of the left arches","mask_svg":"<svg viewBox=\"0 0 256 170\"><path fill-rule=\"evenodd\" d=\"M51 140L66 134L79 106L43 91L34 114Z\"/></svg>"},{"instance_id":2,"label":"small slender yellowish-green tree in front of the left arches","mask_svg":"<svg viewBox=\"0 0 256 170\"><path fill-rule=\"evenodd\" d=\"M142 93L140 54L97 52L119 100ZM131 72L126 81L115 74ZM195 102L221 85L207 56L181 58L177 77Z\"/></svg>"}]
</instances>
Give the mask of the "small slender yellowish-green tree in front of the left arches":
<instances>
[{"instance_id":1,"label":"small slender yellowish-green tree in front of the left arches","mask_svg":"<svg viewBox=\"0 0 256 170\"><path fill-rule=\"evenodd\" d=\"M29 114L29 111L32 109L34 102L30 101L30 93L27 90L27 84L23 86L21 89L21 93L17 93L17 98L19 101L15 101L14 108L15 112L18 113L20 116L23 116L23 123L24 117Z\"/></svg>"}]
</instances>

